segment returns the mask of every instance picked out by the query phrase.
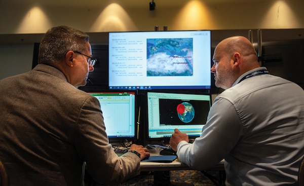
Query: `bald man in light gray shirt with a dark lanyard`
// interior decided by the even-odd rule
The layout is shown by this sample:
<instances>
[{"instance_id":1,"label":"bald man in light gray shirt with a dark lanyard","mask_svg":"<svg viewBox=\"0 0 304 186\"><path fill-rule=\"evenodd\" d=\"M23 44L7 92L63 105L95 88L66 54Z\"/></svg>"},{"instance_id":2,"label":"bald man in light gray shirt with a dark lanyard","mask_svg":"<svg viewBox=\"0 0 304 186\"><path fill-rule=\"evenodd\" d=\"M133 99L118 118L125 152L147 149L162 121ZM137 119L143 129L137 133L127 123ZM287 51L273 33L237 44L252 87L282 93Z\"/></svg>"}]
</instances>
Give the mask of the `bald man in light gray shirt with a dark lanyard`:
<instances>
[{"instance_id":1,"label":"bald man in light gray shirt with a dark lanyard","mask_svg":"<svg viewBox=\"0 0 304 186\"><path fill-rule=\"evenodd\" d=\"M224 159L226 185L295 185L304 155L304 91L260 67L249 40L221 41L213 55L215 85L225 89L194 143L178 129L170 145L188 166Z\"/></svg>"}]
</instances>

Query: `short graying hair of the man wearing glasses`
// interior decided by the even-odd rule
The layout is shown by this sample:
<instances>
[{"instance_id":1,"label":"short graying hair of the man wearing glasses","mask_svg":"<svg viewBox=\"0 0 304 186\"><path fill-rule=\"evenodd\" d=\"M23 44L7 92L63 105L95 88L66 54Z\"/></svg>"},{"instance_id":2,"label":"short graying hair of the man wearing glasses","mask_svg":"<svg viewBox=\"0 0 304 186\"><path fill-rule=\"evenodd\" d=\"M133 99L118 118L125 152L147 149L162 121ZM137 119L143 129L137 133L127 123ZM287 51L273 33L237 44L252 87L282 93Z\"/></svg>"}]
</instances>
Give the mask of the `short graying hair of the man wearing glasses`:
<instances>
[{"instance_id":1,"label":"short graying hair of the man wearing glasses","mask_svg":"<svg viewBox=\"0 0 304 186\"><path fill-rule=\"evenodd\" d=\"M39 46L38 63L59 63L68 51L82 52L89 42L89 35L69 26L49 29Z\"/></svg>"}]
</instances>

